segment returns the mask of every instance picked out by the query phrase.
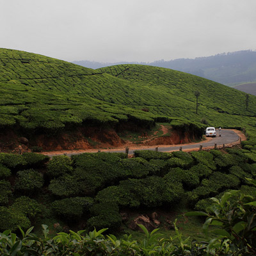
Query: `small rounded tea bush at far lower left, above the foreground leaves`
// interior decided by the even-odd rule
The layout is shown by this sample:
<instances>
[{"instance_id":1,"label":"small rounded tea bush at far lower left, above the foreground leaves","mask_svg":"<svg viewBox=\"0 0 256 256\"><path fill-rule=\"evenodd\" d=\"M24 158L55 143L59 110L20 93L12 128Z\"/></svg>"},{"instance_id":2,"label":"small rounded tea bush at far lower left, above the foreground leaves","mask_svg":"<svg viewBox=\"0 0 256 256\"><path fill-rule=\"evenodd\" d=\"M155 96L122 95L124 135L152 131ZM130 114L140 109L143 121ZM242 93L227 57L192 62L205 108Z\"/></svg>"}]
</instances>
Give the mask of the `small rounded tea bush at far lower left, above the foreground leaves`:
<instances>
[{"instance_id":1,"label":"small rounded tea bush at far lower left, above the foreground leaves","mask_svg":"<svg viewBox=\"0 0 256 256\"><path fill-rule=\"evenodd\" d=\"M29 198L28 196L20 196L15 200L10 211L22 213L29 219L35 219L40 212L42 212L41 205L36 200Z\"/></svg>"}]
</instances>

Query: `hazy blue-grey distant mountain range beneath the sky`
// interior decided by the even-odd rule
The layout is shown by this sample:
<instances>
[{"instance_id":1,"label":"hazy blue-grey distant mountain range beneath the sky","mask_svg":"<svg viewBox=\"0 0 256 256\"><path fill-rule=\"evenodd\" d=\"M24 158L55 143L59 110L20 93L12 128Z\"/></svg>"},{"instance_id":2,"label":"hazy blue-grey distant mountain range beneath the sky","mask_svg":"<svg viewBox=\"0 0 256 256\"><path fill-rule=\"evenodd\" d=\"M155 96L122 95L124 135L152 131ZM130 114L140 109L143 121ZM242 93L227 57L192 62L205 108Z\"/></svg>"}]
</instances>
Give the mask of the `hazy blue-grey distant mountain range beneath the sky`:
<instances>
[{"instance_id":1,"label":"hazy blue-grey distant mountain range beneath the sky","mask_svg":"<svg viewBox=\"0 0 256 256\"><path fill-rule=\"evenodd\" d=\"M256 81L256 51L237 51L216 54L195 59L177 59L170 61L100 63L96 61L73 61L88 68L102 68L120 64L140 64L154 67L171 68L200 77L205 77L228 86ZM240 88L241 90L241 88Z\"/></svg>"}]
</instances>

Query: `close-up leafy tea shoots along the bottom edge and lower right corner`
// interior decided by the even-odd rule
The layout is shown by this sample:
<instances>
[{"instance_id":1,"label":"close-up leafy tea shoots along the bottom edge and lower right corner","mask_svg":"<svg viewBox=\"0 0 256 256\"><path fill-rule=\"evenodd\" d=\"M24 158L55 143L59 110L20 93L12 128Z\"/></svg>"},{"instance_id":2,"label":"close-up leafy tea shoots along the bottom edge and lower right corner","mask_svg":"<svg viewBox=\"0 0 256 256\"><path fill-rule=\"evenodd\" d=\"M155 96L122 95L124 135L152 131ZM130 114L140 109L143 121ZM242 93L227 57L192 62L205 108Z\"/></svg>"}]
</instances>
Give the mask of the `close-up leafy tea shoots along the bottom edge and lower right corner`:
<instances>
[{"instance_id":1,"label":"close-up leafy tea shoots along the bottom edge and lower right corner","mask_svg":"<svg viewBox=\"0 0 256 256\"><path fill-rule=\"evenodd\" d=\"M256 182L251 180L256 186ZM118 239L112 234L106 236L108 228L85 233L85 230L68 233L60 232L52 239L49 237L47 225L42 225L43 237L35 236L31 231L20 229L20 237L6 230L0 233L1 255L225 255L244 256L256 254L256 218L255 196L244 195L240 191L229 191L220 199L211 198L212 204L207 212L188 212L187 216L204 216L205 241L184 239L174 222L175 236L164 238L158 229L148 232L139 225L144 232L141 241L124 235ZM102 211L97 208L95 211ZM97 218L96 218L97 219ZM96 220L95 219L95 220ZM211 228L212 238L207 241L207 232Z\"/></svg>"}]
</instances>

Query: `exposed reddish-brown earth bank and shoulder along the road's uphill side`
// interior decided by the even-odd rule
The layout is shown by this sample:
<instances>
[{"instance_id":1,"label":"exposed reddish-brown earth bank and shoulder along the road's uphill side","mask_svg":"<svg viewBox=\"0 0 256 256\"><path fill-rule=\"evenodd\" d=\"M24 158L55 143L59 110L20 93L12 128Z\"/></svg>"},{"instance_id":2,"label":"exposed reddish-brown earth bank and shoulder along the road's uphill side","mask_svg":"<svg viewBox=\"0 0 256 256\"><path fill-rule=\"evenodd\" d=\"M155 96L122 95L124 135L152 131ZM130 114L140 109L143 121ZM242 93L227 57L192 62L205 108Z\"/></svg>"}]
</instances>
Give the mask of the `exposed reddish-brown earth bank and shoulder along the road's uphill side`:
<instances>
[{"instance_id":1,"label":"exposed reddish-brown earth bank and shoulder along the road's uphill side","mask_svg":"<svg viewBox=\"0 0 256 256\"><path fill-rule=\"evenodd\" d=\"M160 131L162 134L158 136L157 133ZM246 140L243 132L237 130L232 131L236 132L241 140ZM27 138L19 136L12 130L8 130L0 133L0 151L19 153L21 148L22 152L31 152L32 146L35 147L36 145L36 147L42 148L42 154L57 155L98 152L98 150L102 152L113 152L125 150L125 148L129 148L129 150L152 147L167 148L172 145L184 147L186 145L196 145L200 142L193 134L170 131L170 127L166 127L165 125L161 125L161 129L154 132L154 134L147 135L147 133L141 131L141 136L138 136L138 138L140 138L140 142L134 143L134 141L120 138L114 129L100 129L99 127L87 127L85 129L80 127L76 131L69 133L60 132L54 136L41 134L33 138L32 144ZM207 143L207 141L211 140L212 138L203 136L203 140L201 141L202 143ZM239 141L234 141L234 143L237 144ZM212 146L209 148L212 148ZM192 150L195 149L184 148L184 151ZM168 150L163 151L168 152Z\"/></svg>"}]
</instances>

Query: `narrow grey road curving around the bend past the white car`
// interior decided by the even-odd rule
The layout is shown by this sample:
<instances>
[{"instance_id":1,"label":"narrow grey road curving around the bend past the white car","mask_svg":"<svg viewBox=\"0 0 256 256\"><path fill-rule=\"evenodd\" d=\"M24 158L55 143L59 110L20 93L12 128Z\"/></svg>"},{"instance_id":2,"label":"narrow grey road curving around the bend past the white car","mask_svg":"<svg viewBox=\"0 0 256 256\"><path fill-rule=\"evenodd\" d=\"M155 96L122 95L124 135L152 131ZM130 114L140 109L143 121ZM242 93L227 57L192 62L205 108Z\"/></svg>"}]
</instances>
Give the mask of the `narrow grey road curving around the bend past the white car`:
<instances>
[{"instance_id":1,"label":"narrow grey road curving around the bend past the white car","mask_svg":"<svg viewBox=\"0 0 256 256\"><path fill-rule=\"evenodd\" d=\"M214 148L214 145L216 143L217 147L223 147L223 144L228 145L230 143L237 143L239 144L241 136L238 136L236 132L228 129L224 129L221 131L221 136L219 134L219 131L217 131L217 136L215 138L210 138L207 141L201 141L199 143L189 143L189 144L183 144L183 145L162 145L162 147L158 146L159 152L172 152L180 150L180 147L182 147L182 150L184 151L193 151L193 150L199 150L200 145L202 145L203 150L205 148ZM156 150L157 146L151 147L151 148L136 148L136 149L129 149L129 154L133 154L135 150ZM115 150L115 148L111 150L100 150L101 152L122 152L125 153L125 149L123 150ZM82 154L84 152L92 152L92 150L83 150L83 152L76 152L75 150L71 151L67 150L60 153L52 154L53 152L43 152L42 154L46 154L47 156L56 156L59 154L66 154L67 156L76 155L76 154ZM97 152L97 150L95 150Z\"/></svg>"}]
</instances>

